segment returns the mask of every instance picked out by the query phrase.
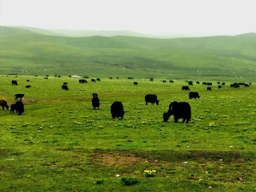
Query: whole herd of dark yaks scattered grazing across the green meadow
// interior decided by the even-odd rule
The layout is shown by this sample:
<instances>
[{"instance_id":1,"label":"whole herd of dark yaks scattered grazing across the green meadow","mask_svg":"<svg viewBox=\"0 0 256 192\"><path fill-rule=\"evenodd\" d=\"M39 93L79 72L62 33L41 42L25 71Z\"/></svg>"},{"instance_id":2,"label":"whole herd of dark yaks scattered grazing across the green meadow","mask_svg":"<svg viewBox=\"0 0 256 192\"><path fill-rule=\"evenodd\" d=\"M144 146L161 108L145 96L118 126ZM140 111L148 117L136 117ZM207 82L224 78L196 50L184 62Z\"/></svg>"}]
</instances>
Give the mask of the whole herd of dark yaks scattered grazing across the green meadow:
<instances>
[{"instance_id":1,"label":"whole herd of dark yaks scattered grazing across the green meadow","mask_svg":"<svg viewBox=\"0 0 256 192\"><path fill-rule=\"evenodd\" d=\"M59 77L59 76L58 76ZM89 77L86 77L89 78ZM48 79L48 76L45 77L45 79ZM109 78L109 79L113 79L113 78ZM119 79L117 77L117 79ZM131 77L129 77L128 79L133 79ZM29 82L30 80L26 80L27 82ZM100 78L97 79L91 79L91 82L96 82L96 81L101 81ZM150 78L150 81L154 81L153 78ZM166 80L161 80L163 83L166 83ZM174 83L173 80L169 81L170 83ZM193 86L193 82L192 81L185 81L188 83L188 86L182 86L181 90L185 90L185 91L190 91L189 86ZM12 85L18 85L16 80L12 80ZM79 79L79 83L88 83L87 80L85 79ZM68 86L67 86L67 82L64 82L62 85L62 90L68 91ZM134 85L138 85L138 82L133 82ZM200 84L200 82L196 82L196 84ZM221 89L222 86L225 86L225 82L222 82L222 84L220 82L217 82L218 84L218 89ZM207 82L203 82L202 85L207 85L207 91L212 91L211 86L212 83L207 83ZM230 87L234 87L234 88L238 88L240 86L244 86L244 87L249 87L251 86L251 83L246 84L246 83L233 83L230 84ZM30 88L30 85L27 85L26 88ZM14 111L16 111L16 113L18 113L18 115L21 115L24 112L24 105L22 103L22 98L25 96L25 94L16 94L15 96L15 100L17 100L16 103L11 105L11 112L10 113L14 113ZM20 99L20 101L18 101L18 98ZM189 92L189 99L197 99L200 98L199 93L197 92ZM93 93L93 98L91 100L92 102L92 106L93 109L96 110L99 109L99 98L98 98L98 94L97 93ZM152 95L152 94L147 94L145 96L145 102L146 105L148 105L148 103L151 103L152 105L154 105L156 103L156 105L158 105L159 100L157 99L157 95ZM7 110L9 109L9 106L7 105L7 102L5 100L0 100L0 106L3 108L6 108ZM123 108L123 103L121 101L115 101L112 103L111 108L110 108L110 112L112 114L112 118L116 119L116 118L123 118L124 117L124 108ZM188 121L191 120L191 107L189 105L189 103L187 102L172 102L169 105L169 110L167 112L163 113L163 122L167 122L169 120L169 117L173 115L174 116L174 123L178 122L178 119L182 118L182 123L184 123L186 121L186 123L188 123Z\"/></svg>"}]
</instances>

